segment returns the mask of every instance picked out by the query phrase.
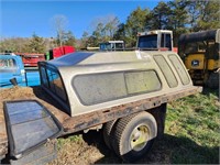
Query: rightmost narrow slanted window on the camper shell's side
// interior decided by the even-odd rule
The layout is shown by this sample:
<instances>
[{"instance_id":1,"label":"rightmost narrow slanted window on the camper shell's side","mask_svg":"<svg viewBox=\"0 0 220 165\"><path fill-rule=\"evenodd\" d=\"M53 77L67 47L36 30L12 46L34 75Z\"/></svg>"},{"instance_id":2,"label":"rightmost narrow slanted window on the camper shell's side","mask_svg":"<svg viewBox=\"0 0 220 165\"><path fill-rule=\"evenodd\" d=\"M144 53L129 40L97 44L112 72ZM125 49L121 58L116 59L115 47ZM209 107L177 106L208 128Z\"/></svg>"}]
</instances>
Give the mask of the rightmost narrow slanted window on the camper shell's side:
<instances>
[{"instance_id":1,"label":"rightmost narrow slanted window on the camper shell's side","mask_svg":"<svg viewBox=\"0 0 220 165\"><path fill-rule=\"evenodd\" d=\"M169 57L172 64L174 65L174 67L176 68L176 72L178 73L183 85L188 85L189 84L189 77L186 73L186 69L184 68L184 66L179 62L179 59L175 55L169 55L168 57Z\"/></svg>"}]
</instances>

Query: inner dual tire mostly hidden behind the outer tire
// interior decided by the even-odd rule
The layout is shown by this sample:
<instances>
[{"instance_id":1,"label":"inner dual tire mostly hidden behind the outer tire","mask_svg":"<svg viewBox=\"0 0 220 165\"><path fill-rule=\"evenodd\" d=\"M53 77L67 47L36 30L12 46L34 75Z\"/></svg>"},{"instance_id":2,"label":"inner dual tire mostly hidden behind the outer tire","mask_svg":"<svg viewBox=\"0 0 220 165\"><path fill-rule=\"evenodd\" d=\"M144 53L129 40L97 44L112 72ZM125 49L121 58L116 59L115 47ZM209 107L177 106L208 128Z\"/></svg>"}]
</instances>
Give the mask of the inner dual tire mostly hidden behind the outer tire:
<instances>
[{"instance_id":1,"label":"inner dual tire mostly hidden behind the outer tire","mask_svg":"<svg viewBox=\"0 0 220 165\"><path fill-rule=\"evenodd\" d=\"M110 150L112 150L110 140L112 136L112 128L116 122L117 122L117 120L112 120L112 121L105 123L105 125L103 125L103 141Z\"/></svg>"}]
</instances>

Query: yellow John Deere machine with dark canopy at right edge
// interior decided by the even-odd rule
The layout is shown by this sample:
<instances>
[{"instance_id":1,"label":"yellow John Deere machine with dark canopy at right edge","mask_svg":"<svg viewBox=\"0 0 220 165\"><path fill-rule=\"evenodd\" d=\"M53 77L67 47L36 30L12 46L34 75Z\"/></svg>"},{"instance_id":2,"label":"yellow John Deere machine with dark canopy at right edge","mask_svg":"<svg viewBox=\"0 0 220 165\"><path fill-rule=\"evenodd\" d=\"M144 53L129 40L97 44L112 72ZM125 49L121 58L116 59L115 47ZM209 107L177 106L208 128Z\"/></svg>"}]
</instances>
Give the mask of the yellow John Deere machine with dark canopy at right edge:
<instances>
[{"instance_id":1,"label":"yellow John Deere machine with dark canopy at right edge","mask_svg":"<svg viewBox=\"0 0 220 165\"><path fill-rule=\"evenodd\" d=\"M195 85L219 88L220 29L182 34L178 54Z\"/></svg>"}]
</instances>

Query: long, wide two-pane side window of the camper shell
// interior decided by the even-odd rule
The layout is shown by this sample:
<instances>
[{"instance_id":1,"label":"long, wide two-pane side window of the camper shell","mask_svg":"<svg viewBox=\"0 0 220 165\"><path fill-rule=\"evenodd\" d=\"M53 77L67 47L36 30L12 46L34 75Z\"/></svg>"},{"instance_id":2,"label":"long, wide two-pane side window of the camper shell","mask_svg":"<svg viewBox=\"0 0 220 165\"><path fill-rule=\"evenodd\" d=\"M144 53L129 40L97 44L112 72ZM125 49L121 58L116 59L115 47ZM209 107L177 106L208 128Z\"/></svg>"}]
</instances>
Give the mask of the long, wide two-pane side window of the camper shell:
<instances>
[{"instance_id":1,"label":"long, wide two-pane side window of the camper shell","mask_svg":"<svg viewBox=\"0 0 220 165\"><path fill-rule=\"evenodd\" d=\"M87 106L161 89L161 81L153 70L79 75L72 85Z\"/></svg>"}]
</instances>

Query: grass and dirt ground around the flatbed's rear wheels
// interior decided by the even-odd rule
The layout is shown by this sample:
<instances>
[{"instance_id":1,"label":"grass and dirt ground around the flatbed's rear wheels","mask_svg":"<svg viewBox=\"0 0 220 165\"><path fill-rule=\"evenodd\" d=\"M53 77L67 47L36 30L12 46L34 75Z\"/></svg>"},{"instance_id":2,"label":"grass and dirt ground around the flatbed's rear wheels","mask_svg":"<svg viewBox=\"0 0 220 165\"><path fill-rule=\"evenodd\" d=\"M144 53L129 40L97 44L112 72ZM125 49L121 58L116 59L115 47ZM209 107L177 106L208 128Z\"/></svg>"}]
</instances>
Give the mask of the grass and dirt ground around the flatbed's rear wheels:
<instances>
[{"instance_id":1,"label":"grass and dirt ground around the flatbed's rear wheels","mask_svg":"<svg viewBox=\"0 0 220 165\"><path fill-rule=\"evenodd\" d=\"M220 102L218 90L173 101L167 107L163 139L140 164L219 164ZM100 133L58 140L58 158L52 164L123 163L108 150Z\"/></svg>"}]
</instances>

